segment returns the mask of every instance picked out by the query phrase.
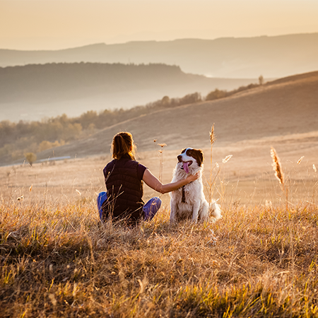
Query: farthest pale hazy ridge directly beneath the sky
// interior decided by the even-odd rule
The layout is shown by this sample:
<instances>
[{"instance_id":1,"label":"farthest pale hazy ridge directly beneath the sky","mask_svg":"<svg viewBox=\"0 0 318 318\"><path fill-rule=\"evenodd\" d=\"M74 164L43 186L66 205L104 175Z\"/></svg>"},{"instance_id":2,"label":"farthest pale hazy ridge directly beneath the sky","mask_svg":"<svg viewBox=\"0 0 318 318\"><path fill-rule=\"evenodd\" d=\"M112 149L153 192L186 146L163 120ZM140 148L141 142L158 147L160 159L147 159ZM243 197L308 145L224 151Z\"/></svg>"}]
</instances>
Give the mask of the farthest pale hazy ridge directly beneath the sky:
<instances>
[{"instance_id":1,"label":"farthest pale hazy ridge directly beneath the sky","mask_svg":"<svg viewBox=\"0 0 318 318\"><path fill-rule=\"evenodd\" d=\"M164 63L220 78L278 78L318 69L318 33L167 42L103 43L57 51L0 49L0 66L102 62Z\"/></svg>"}]
</instances>

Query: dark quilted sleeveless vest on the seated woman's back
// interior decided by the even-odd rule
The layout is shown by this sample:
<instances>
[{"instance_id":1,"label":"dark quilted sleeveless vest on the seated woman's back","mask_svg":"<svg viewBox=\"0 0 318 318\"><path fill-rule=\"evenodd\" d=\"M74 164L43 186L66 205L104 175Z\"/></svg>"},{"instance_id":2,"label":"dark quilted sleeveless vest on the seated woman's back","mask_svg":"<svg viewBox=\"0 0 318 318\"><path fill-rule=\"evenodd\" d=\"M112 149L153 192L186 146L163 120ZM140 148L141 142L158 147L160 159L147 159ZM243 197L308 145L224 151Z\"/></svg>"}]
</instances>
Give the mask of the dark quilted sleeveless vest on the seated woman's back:
<instances>
[{"instance_id":1,"label":"dark quilted sleeveless vest on the seated woman's back","mask_svg":"<svg viewBox=\"0 0 318 318\"><path fill-rule=\"evenodd\" d=\"M104 168L107 200L103 218L126 218L129 223L143 219L143 183L138 178L139 163L131 158L114 159Z\"/></svg>"}]
</instances>

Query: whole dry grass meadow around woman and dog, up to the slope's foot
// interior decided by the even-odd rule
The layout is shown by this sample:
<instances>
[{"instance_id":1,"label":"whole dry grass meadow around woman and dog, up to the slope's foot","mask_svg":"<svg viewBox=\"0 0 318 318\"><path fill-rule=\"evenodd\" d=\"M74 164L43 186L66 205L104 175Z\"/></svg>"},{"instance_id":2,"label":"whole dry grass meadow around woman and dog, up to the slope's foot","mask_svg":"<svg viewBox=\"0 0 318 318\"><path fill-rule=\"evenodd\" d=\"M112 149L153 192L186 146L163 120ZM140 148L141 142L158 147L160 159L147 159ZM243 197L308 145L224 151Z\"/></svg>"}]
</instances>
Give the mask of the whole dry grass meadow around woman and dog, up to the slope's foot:
<instances>
[{"instance_id":1,"label":"whole dry grass meadow around woman and dog, up to the slope's foot","mask_svg":"<svg viewBox=\"0 0 318 318\"><path fill-rule=\"evenodd\" d=\"M287 197L269 143L216 146L212 165L205 148L223 218L199 224L170 225L168 194L151 222L101 224L109 154L0 167L0 317L318 317L315 157L285 144ZM138 160L170 182L179 151L154 149Z\"/></svg>"}]
</instances>

